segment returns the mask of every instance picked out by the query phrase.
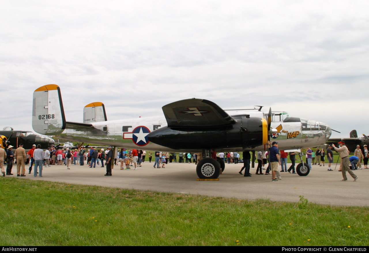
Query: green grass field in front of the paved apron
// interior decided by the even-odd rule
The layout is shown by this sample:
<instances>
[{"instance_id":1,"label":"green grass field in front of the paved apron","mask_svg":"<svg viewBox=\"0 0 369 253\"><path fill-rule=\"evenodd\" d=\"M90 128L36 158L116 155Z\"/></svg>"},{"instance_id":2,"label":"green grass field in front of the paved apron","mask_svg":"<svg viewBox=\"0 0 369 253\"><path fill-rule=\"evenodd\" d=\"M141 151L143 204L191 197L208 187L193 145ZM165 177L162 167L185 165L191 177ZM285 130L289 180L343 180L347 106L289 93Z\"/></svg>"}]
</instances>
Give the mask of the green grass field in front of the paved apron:
<instances>
[{"instance_id":1,"label":"green grass field in front of the paved apron","mask_svg":"<svg viewBox=\"0 0 369 253\"><path fill-rule=\"evenodd\" d=\"M366 207L0 180L3 246L369 244Z\"/></svg>"}]
</instances>

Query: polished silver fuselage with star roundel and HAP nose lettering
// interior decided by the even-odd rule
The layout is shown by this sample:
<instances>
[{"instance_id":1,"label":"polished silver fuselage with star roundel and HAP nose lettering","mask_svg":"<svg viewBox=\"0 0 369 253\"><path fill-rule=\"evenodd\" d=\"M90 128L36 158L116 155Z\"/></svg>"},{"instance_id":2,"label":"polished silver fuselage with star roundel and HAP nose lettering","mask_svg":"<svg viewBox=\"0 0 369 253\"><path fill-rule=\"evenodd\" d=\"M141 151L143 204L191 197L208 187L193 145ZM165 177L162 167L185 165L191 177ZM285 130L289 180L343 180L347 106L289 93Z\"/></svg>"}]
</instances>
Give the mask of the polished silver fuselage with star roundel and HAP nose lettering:
<instances>
[{"instance_id":1,"label":"polished silver fuselage with star roundel and HAP nose lettering","mask_svg":"<svg viewBox=\"0 0 369 253\"><path fill-rule=\"evenodd\" d=\"M242 115L242 112L232 112L230 115ZM266 114L259 111L247 112L250 117L266 117ZM273 119L276 120L276 117ZM282 120L282 121L278 121ZM158 144L152 143L148 140L146 135L160 127L167 127L165 117L139 117L133 119L110 120L104 122L91 123L93 127L81 127L78 129L67 128L56 135L56 138L65 139L69 141L81 141L84 143L95 144L100 146L116 146L125 148L135 148L141 150L152 151L168 151L168 152L200 152L200 149L194 147L193 149L173 149ZM142 128L144 127L144 128ZM320 146L328 140L331 135L331 129L324 123L315 122L313 120L305 120L300 118L282 117L271 123L271 128L276 129L273 134L270 134L270 141L278 142L280 150L291 150L300 148L311 148ZM146 133L141 133L142 130L147 129ZM132 132L136 133L132 133ZM141 140L141 141L139 141ZM136 142L138 144L136 144ZM266 150L266 145L247 148L249 151L263 151ZM222 151L242 151L242 147L224 147ZM217 150L218 151L218 150Z\"/></svg>"}]
</instances>

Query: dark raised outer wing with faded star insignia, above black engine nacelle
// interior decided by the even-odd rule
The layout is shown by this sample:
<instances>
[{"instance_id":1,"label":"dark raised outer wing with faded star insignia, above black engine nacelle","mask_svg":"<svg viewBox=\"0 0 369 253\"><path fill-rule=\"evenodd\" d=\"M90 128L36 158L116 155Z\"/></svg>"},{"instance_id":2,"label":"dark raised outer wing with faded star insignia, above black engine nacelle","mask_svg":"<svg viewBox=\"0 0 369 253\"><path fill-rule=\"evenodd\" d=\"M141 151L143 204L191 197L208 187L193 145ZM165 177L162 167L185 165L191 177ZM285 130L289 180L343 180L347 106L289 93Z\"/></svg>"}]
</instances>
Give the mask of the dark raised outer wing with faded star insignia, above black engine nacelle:
<instances>
[{"instance_id":1,"label":"dark raised outer wing with faded star insignia, above black engine nacelle","mask_svg":"<svg viewBox=\"0 0 369 253\"><path fill-rule=\"evenodd\" d=\"M206 99L184 99L162 107L168 127L227 126L234 119Z\"/></svg>"}]
</instances>

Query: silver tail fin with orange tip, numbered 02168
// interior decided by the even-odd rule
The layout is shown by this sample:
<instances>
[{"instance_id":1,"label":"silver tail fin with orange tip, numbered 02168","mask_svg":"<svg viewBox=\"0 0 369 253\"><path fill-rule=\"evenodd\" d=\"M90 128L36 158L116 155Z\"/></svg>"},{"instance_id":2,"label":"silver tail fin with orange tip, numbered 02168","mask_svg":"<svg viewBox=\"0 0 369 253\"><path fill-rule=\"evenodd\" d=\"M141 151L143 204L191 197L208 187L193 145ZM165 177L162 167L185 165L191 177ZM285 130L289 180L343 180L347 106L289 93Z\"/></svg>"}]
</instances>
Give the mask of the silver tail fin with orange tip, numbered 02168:
<instances>
[{"instance_id":1,"label":"silver tail fin with orange tip, numbered 02168","mask_svg":"<svg viewBox=\"0 0 369 253\"><path fill-rule=\"evenodd\" d=\"M32 127L39 134L55 135L66 125L60 88L55 84L44 85L33 93Z\"/></svg>"}]
</instances>

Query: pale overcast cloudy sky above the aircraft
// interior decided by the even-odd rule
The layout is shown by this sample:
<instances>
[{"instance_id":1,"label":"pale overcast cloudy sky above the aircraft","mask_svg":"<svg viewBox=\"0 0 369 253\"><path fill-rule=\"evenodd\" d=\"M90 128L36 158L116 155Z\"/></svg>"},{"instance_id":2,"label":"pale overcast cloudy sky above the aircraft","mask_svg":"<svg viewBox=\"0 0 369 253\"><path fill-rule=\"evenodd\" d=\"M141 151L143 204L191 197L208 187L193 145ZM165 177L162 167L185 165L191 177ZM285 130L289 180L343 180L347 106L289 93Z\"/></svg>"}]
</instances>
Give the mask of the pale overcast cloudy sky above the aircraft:
<instances>
[{"instance_id":1,"label":"pale overcast cloudy sky above the aircraft","mask_svg":"<svg viewBox=\"0 0 369 253\"><path fill-rule=\"evenodd\" d=\"M369 1L1 1L0 130L32 130L32 93L61 87L67 121L176 100L284 110L369 135ZM32 130L33 131L33 130Z\"/></svg>"}]
</instances>

